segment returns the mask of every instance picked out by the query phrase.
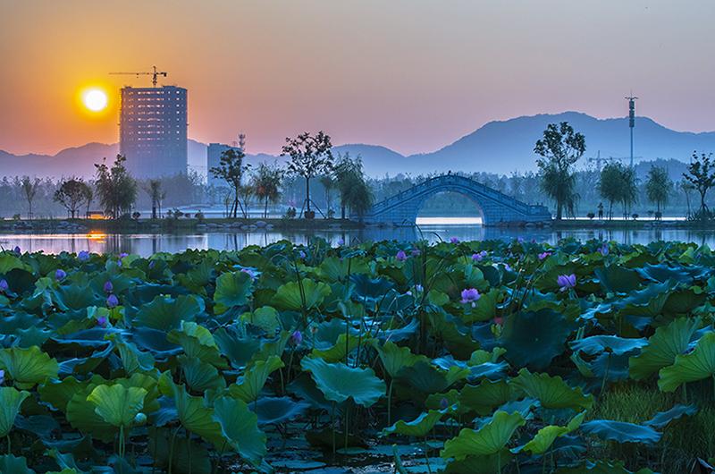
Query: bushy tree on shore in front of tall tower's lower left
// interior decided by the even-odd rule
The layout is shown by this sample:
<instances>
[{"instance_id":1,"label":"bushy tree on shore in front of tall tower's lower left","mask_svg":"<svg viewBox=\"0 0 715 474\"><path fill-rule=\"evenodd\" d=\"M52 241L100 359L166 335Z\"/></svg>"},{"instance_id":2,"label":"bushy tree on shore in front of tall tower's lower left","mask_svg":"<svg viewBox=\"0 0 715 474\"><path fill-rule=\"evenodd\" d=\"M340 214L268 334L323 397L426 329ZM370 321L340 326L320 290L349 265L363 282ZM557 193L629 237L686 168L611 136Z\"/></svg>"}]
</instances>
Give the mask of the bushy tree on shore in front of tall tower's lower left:
<instances>
[{"instance_id":1,"label":"bushy tree on shore in front of tall tower's lower left","mask_svg":"<svg viewBox=\"0 0 715 474\"><path fill-rule=\"evenodd\" d=\"M125 162L126 157L117 155L112 167L107 166L106 158L97 165L97 180L95 186L99 203L104 207L108 216L115 219L130 212L137 200L137 182L131 177Z\"/></svg>"}]
</instances>

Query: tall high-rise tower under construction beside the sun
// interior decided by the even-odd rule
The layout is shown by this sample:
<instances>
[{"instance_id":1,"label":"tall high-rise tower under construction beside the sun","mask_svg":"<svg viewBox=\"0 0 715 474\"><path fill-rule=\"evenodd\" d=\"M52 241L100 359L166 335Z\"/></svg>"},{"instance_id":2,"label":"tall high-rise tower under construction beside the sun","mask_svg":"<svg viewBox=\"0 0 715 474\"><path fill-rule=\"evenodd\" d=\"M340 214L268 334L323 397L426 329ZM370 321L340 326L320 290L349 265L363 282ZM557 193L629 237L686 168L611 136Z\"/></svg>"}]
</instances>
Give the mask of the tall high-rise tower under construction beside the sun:
<instances>
[{"instance_id":1,"label":"tall high-rise tower under construction beside the sun","mask_svg":"<svg viewBox=\"0 0 715 474\"><path fill-rule=\"evenodd\" d=\"M187 173L187 90L122 88L119 149L136 178Z\"/></svg>"}]
</instances>

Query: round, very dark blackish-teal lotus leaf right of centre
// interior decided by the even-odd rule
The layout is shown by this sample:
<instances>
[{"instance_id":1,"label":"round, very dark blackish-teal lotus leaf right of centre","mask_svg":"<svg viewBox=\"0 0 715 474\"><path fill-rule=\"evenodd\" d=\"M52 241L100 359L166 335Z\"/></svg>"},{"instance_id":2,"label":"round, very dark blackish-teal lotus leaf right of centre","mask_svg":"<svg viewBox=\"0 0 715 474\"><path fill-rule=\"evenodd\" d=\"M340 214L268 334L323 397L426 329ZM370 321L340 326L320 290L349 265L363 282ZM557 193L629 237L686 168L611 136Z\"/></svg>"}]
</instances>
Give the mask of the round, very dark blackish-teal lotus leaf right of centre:
<instances>
[{"instance_id":1,"label":"round, very dark blackish-teal lotus leaf right of centre","mask_svg":"<svg viewBox=\"0 0 715 474\"><path fill-rule=\"evenodd\" d=\"M565 350L571 330L566 317L553 309L519 312L506 318L500 345L512 365L542 370Z\"/></svg>"}]
</instances>

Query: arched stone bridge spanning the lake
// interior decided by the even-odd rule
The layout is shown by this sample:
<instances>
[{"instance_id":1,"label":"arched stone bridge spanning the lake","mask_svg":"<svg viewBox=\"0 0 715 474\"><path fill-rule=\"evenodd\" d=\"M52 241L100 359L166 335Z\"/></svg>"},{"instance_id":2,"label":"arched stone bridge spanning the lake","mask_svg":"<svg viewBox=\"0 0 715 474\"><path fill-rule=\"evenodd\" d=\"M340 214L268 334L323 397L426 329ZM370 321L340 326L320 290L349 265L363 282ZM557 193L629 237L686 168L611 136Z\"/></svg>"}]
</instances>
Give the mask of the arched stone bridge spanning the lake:
<instances>
[{"instance_id":1,"label":"arched stone bridge spanning the lake","mask_svg":"<svg viewBox=\"0 0 715 474\"><path fill-rule=\"evenodd\" d=\"M551 221L548 208L526 204L457 174L435 176L384 199L374 204L363 220L366 224L414 225L425 200L441 192L456 192L473 200L482 211L484 225Z\"/></svg>"}]
</instances>

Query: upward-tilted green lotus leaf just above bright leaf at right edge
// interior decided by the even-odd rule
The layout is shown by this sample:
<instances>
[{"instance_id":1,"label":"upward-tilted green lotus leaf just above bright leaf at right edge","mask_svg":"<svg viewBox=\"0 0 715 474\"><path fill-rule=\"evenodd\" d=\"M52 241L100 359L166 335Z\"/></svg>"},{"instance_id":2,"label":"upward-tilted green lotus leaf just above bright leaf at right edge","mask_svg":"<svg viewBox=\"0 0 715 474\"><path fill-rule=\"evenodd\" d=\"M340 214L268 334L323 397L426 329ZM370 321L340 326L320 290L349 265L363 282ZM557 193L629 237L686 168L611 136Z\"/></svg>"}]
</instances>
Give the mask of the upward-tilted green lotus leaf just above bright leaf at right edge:
<instances>
[{"instance_id":1,"label":"upward-tilted green lotus leaf just above bright leaf at right edge","mask_svg":"<svg viewBox=\"0 0 715 474\"><path fill-rule=\"evenodd\" d=\"M700 318L678 317L668 326L657 328L641 353L628 360L630 376L643 380L672 365L676 356L687 350L698 326Z\"/></svg>"}]
</instances>

